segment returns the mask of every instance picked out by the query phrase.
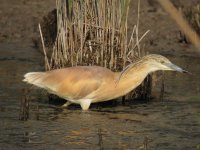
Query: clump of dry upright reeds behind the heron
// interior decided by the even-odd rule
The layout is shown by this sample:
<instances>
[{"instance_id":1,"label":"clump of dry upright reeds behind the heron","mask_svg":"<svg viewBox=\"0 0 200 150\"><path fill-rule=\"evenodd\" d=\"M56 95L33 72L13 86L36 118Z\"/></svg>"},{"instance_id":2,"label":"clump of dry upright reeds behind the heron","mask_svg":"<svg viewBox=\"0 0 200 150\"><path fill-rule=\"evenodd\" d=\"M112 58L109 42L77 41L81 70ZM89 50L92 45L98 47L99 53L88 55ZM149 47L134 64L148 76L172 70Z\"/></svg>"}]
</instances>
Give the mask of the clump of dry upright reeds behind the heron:
<instances>
[{"instance_id":1,"label":"clump of dry upright reeds behind the heron","mask_svg":"<svg viewBox=\"0 0 200 150\"><path fill-rule=\"evenodd\" d=\"M46 70L98 65L121 71L143 56L145 52L141 50L140 42L149 31L139 37L138 14L138 22L128 37L129 4L130 0L56 0L57 17L53 20L57 29L53 29L56 38L52 47L46 45L51 44L46 40L46 32L51 29L44 29L50 23L42 24L40 30ZM42 31L45 31L44 35ZM149 81L147 83L145 85L149 87ZM147 89L145 87L145 92L150 95Z\"/></svg>"}]
</instances>

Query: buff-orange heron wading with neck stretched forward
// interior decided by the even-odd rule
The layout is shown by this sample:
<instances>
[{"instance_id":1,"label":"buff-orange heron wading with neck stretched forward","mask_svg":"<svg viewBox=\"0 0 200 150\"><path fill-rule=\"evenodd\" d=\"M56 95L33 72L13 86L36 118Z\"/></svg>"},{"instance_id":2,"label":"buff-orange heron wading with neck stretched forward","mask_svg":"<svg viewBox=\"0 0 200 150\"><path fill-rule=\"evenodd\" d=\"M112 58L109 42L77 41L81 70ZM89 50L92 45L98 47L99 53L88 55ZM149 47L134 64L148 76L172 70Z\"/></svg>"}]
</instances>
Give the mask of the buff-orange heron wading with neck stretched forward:
<instances>
[{"instance_id":1,"label":"buff-orange heron wading with neck stretched forward","mask_svg":"<svg viewBox=\"0 0 200 150\"><path fill-rule=\"evenodd\" d=\"M186 72L166 57L156 54L144 56L128 65L121 72L113 72L99 66L77 66L47 72L30 72L23 81L46 89L71 103L88 110L91 103L108 101L129 93L139 86L145 77L157 70Z\"/></svg>"}]
</instances>

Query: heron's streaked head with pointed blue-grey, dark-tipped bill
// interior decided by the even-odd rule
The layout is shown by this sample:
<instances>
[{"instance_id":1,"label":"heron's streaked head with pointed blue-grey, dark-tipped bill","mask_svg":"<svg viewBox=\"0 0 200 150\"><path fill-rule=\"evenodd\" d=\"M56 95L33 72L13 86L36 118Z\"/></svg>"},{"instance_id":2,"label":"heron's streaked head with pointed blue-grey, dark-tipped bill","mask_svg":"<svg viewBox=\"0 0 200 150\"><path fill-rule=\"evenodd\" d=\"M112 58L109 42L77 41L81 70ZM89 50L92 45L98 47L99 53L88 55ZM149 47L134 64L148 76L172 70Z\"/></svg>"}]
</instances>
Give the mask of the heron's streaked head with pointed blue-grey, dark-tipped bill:
<instances>
[{"instance_id":1,"label":"heron's streaked head with pointed blue-grey, dark-tipped bill","mask_svg":"<svg viewBox=\"0 0 200 150\"><path fill-rule=\"evenodd\" d=\"M145 64L149 66L151 71L171 70L171 71L188 73L187 71L173 64L169 59L161 55L151 54L144 56L142 59L145 62Z\"/></svg>"}]
</instances>

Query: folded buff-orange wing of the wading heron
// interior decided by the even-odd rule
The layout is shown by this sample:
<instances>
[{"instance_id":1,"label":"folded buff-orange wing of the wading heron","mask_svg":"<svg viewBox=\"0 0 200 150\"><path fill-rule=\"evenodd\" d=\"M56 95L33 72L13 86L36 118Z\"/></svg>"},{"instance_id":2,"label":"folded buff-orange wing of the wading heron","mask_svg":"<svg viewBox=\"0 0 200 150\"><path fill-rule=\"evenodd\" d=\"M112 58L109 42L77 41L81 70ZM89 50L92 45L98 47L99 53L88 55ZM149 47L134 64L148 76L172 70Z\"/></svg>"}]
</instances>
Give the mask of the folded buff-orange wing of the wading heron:
<instances>
[{"instance_id":1,"label":"folded buff-orange wing of the wading heron","mask_svg":"<svg viewBox=\"0 0 200 150\"><path fill-rule=\"evenodd\" d=\"M109 78L113 78L113 74L106 68L72 67L48 72L43 83L55 94L77 100L88 98Z\"/></svg>"}]
</instances>

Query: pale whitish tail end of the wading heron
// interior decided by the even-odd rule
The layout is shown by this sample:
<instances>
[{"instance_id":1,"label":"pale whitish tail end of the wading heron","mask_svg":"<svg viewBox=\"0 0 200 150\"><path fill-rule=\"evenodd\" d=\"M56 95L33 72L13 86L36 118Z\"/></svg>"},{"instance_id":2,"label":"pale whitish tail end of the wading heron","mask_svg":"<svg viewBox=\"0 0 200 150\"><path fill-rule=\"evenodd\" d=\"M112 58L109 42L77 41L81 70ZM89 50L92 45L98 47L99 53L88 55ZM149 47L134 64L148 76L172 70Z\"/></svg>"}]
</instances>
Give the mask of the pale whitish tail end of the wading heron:
<instances>
[{"instance_id":1,"label":"pale whitish tail end of the wading heron","mask_svg":"<svg viewBox=\"0 0 200 150\"><path fill-rule=\"evenodd\" d=\"M45 72L29 72L24 75L24 82L36 85L40 88L45 88L43 81L46 78Z\"/></svg>"}]
</instances>

